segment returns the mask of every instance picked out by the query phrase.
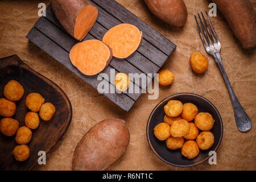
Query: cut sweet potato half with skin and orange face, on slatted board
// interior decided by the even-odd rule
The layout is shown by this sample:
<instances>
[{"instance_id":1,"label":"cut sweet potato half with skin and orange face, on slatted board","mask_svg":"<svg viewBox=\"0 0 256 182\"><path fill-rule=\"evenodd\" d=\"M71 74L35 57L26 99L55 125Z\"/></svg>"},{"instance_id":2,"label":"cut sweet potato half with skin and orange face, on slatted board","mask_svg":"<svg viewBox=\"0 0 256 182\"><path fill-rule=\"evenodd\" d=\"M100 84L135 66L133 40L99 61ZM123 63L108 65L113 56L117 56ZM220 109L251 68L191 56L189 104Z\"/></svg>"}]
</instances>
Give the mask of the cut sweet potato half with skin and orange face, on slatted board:
<instances>
[{"instance_id":1,"label":"cut sweet potato half with skin and orange face, on slatted board","mask_svg":"<svg viewBox=\"0 0 256 182\"><path fill-rule=\"evenodd\" d=\"M84 39L97 20L98 9L88 0L50 0L62 26L78 40Z\"/></svg>"}]
</instances>

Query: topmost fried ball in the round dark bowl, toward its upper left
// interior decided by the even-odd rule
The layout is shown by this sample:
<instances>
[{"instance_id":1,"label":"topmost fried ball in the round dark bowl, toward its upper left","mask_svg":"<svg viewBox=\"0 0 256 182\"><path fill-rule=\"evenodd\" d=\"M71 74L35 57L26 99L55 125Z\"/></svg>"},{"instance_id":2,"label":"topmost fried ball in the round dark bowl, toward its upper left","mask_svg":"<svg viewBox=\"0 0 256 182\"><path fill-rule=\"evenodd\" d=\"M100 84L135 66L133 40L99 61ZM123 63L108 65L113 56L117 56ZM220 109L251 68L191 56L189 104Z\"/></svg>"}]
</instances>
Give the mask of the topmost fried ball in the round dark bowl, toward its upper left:
<instances>
[{"instance_id":1,"label":"topmost fried ball in the round dark bowl, toward its upper left","mask_svg":"<svg viewBox=\"0 0 256 182\"><path fill-rule=\"evenodd\" d=\"M164 112L170 117L177 117L183 111L183 104L180 101L171 100L164 106Z\"/></svg>"}]
</instances>

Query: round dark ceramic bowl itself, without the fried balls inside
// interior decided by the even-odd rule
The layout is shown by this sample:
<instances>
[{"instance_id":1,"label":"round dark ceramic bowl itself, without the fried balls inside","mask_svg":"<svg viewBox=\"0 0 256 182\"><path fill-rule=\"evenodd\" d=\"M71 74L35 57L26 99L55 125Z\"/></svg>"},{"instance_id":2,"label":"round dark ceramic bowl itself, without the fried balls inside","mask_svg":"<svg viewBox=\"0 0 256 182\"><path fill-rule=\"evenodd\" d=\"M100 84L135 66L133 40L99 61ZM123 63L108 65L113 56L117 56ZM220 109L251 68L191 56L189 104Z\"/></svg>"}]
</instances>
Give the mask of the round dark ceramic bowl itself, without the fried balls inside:
<instances>
[{"instance_id":1,"label":"round dark ceramic bowl itself, without the fried balls inside","mask_svg":"<svg viewBox=\"0 0 256 182\"><path fill-rule=\"evenodd\" d=\"M214 135L214 143L209 150L200 150L199 155L190 160L181 155L181 149L170 150L166 147L165 141L158 140L154 135L154 127L159 123L164 121L164 105L170 100L179 100L183 104L186 102L191 102L195 104L200 112L208 112L212 114L214 119L214 125L212 130L210 130ZM192 121L193 122L193 121ZM217 151L218 146L220 146L223 125L220 113L216 107L208 101L206 98L193 93L179 93L173 96L167 97L161 101L151 112L150 117L147 121L147 141L151 147L154 154L161 159L163 162L176 167L192 167L197 164L201 164L210 158L209 151ZM199 131L201 132L201 131Z\"/></svg>"}]
</instances>

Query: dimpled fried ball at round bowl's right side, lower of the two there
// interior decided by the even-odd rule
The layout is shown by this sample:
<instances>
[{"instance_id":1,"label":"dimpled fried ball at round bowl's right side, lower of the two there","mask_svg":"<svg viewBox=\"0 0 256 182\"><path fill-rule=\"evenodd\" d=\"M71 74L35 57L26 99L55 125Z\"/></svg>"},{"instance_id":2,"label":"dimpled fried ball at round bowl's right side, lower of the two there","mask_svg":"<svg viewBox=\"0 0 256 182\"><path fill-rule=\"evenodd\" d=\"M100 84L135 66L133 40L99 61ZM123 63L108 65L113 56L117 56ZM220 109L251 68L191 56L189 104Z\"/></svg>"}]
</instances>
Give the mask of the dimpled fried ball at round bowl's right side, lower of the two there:
<instances>
[{"instance_id":1,"label":"dimpled fried ball at round bowl's right side, lower of the two there","mask_svg":"<svg viewBox=\"0 0 256 182\"><path fill-rule=\"evenodd\" d=\"M210 131L202 131L197 136L196 143L201 150L208 150L213 146L214 135Z\"/></svg>"}]
</instances>

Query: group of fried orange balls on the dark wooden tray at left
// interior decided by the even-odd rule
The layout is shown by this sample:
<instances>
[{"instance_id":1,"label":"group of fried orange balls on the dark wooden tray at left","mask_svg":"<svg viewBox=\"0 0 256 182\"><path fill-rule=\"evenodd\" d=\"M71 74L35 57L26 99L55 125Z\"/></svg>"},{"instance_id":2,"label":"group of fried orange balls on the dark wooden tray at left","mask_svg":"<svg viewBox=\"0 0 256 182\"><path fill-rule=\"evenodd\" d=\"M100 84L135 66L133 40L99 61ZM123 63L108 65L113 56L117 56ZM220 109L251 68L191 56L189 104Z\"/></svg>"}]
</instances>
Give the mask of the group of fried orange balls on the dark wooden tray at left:
<instances>
[{"instance_id":1,"label":"group of fried orange balls on the dark wooden tray at left","mask_svg":"<svg viewBox=\"0 0 256 182\"><path fill-rule=\"evenodd\" d=\"M31 129L37 129L40 124L39 115L44 121L51 120L55 113L55 106L49 102L44 103L44 98L39 93L28 94L26 106L30 111L24 117L26 126L19 127L19 121L11 117L16 111L14 101L19 101L23 97L23 86L18 81L11 80L5 85L3 94L6 98L0 98L0 115L4 117L0 121L0 131L7 137L16 134L15 140L19 145L14 148L13 155L17 161L22 162L30 156L30 148L27 144L32 138Z\"/></svg>"}]
</instances>

